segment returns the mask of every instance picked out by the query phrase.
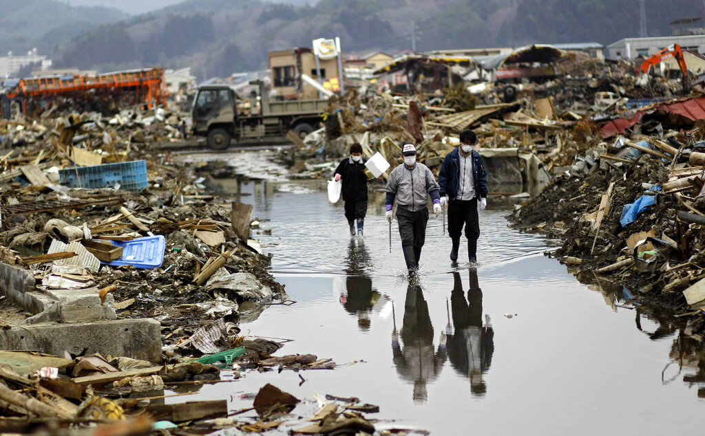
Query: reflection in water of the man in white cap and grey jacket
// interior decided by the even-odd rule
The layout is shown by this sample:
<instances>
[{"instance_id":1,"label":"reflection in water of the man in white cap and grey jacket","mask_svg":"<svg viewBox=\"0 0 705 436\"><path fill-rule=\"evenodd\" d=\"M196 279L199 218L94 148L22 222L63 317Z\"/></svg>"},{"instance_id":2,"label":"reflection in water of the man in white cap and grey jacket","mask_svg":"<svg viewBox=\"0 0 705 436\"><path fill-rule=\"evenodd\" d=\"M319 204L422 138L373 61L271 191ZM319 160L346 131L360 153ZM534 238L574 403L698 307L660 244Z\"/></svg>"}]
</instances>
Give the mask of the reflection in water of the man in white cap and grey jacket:
<instances>
[{"instance_id":1,"label":"reflection in water of the man in white cap and grey jacket","mask_svg":"<svg viewBox=\"0 0 705 436\"><path fill-rule=\"evenodd\" d=\"M434 353L434 328L419 285L409 285L406 289L401 339L403 348L395 328L392 332L394 364L403 380L414 382L414 400L424 402L428 397L427 382L438 377L446 361L446 334L441 333L439 348Z\"/></svg>"}]
</instances>

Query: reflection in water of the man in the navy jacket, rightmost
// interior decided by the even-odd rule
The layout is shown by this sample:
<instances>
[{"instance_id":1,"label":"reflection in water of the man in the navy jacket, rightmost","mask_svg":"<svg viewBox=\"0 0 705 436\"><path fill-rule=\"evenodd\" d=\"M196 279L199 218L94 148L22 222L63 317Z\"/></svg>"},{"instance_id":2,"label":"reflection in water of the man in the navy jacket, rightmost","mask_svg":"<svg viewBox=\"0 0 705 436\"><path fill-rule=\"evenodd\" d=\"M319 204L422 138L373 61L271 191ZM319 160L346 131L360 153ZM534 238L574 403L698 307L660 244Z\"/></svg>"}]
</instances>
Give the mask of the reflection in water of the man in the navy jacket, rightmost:
<instances>
[{"instance_id":1,"label":"reflection in water of the man in the navy jacket, rightmost","mask_svg":"<svg viewBox=\"0 0 705 436\"><path fill-rule=\"evenodd\" d=\"M455 332L448 332L448 359L453 368L470 378L470 390L483 396L487 386L482 375L489 369L494 352L494 330L489 315L482 325L482 289L477 284L477 270L470 268L470 289L467 302L462 291L460 273L453 273L455 281L450 293Z\"/></svg>"}]
</instances>

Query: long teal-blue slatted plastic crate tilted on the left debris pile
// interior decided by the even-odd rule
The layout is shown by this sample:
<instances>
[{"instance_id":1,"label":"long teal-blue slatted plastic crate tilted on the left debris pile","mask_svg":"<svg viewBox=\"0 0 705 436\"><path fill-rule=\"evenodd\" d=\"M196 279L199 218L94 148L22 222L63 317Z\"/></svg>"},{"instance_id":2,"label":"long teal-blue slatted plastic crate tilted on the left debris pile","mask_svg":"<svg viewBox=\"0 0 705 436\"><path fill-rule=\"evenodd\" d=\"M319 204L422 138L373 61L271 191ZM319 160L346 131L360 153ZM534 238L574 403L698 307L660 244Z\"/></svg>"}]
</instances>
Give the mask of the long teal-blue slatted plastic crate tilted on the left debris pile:
<instances>
[{"instance_id":1,"label":"long teal-blue slatted plastic crate tilted on the left debris pile","mask_svg":"<svg viewBox=\"0 0 705 436\"><path fill-rule=\"evenodd\" d=\"M104 163L59 170L60 183L72 188L104 188L120 184L121 189L147 188L147 161Z\"/></svg>"}]
</instances>

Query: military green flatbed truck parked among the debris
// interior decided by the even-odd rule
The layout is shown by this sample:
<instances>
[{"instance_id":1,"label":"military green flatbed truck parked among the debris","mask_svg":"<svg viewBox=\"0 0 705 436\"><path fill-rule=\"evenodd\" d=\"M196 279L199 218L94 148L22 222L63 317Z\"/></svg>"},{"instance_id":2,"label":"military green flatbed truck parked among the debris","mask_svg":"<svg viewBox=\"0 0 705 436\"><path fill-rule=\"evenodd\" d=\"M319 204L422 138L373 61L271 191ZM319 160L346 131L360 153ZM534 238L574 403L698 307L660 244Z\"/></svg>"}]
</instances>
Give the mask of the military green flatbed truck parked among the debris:
<instances>
[{"instance_id":1,"label":"military green flatbed truck parked among the debris","mask_svg":"<svg viewBox=\"0 0 705 436\"><path fill-rule=\"evenodd\" d=\"M228 85L199 87L191 112L193 135L206 137L214 150L227 149L231 139L238 143L283 141L289 130L303 138L317 128L328 106L327 100L269 101L261 80L250 85L259 85L261 99L252 96L250 110L241 111L238 96Z\"/></svg>"}]
</instances>

